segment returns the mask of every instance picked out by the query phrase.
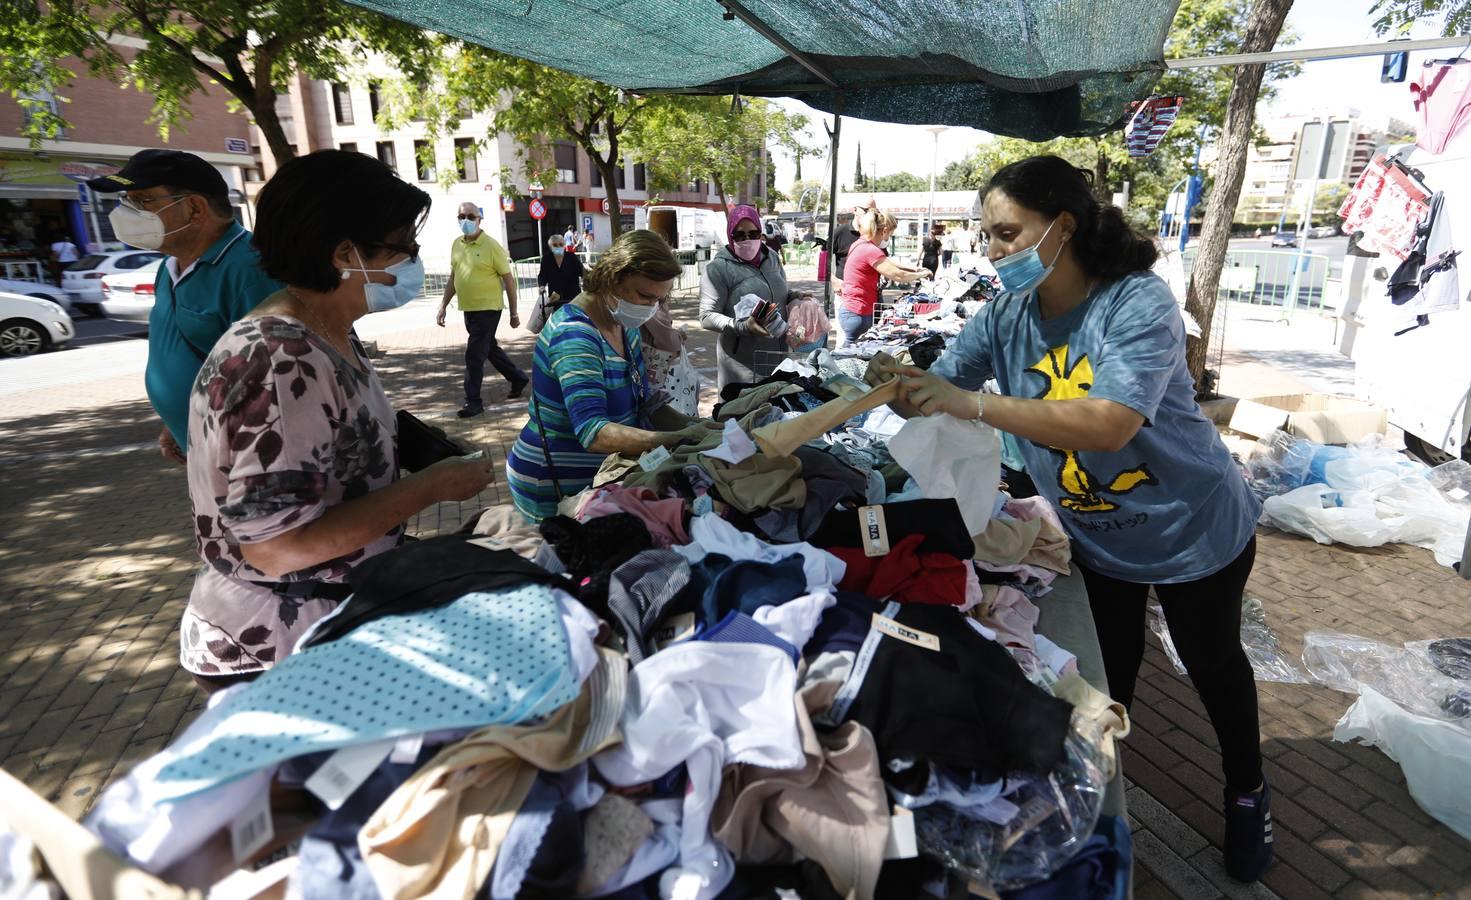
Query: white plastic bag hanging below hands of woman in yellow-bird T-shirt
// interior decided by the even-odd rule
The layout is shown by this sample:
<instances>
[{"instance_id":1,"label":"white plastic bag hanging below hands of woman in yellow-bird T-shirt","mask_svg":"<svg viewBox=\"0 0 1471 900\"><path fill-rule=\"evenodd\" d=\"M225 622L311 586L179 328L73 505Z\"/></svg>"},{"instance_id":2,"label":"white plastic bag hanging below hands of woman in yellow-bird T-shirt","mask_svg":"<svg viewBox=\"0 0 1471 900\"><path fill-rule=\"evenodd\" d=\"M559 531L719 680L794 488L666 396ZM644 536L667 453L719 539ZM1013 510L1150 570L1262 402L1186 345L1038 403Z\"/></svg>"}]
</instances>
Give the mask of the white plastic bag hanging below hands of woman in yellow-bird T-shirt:
<instances>
[{"instance_id":1,"label":"white plastic bag hanging below hands of woman in yellow-bird T-shirt","mask_svg":"<svg viewBox=\"0 0 1471 900\"><path fill-rule=\"evenodd\" d=\"M930 500L953 497L971 534L986 531L1002 476L1002 443L996 429L953 416L909 419L888 451Z\"/></svg>"}]
</instances>

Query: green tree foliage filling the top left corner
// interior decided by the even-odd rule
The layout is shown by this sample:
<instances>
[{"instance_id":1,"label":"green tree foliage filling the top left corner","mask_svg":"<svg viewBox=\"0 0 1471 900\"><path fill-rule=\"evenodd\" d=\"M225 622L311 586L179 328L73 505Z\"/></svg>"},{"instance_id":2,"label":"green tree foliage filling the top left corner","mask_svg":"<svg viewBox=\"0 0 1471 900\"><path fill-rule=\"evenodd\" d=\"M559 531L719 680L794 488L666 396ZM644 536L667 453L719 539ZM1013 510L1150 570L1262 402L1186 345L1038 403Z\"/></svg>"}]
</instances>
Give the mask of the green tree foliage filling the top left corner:
<instances>
[{"instance_id":1,"label":"green tree foliage filling the top left corner","mask_svg":"<svg viewBox=\"0 0 1471 900\"><path fill-rule=\"evenodd\" d=\"M32 113L24 134L34 144L66 126L38 99L65 103L85 69L152 94L163 137L188 121L194 94L218 84L250 110L278 160L293 156L275 112L291 75L337 81L375 53L422 85L447 41L332 0L16 0L0 18L0 88Z\"/></svg>"}]
</instances>

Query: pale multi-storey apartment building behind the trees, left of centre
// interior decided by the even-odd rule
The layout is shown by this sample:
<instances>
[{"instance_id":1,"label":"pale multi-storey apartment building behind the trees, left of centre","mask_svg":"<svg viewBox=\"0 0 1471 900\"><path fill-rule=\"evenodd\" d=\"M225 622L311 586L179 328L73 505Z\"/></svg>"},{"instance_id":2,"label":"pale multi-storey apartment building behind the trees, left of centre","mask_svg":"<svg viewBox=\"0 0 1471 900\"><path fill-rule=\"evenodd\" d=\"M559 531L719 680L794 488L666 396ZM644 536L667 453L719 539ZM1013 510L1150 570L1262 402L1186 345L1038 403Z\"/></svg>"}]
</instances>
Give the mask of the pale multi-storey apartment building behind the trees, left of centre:
<instances>
[{"instance_id":1,"label":"pale multi-storey apartment building behind the trees, left of centre","mask_svg":"<svg viewBox=\"0 0 1471 900\"><path fill-rule=\"evenodd\" d=\"M387 78L391 75L384 74L384 79ZM490 116L468 116L456 135L432 141L431 146L424 128L413 122L391 132L378 124L384 107L381 85L382 82L371 78L328 82L297 76L290 93L281 96L278 115L297 153L328 147L369 153L432 196L430 221L419 235L425 265L431 272L449 269L450 246L459 235L455 213L465 201L481 207L482 228L502 241L513 259L540 256L538 235L544 238L568 228L578 232L591 229L597 247L606 247L612 240L608 188L597 168L577 144L550 141L541 149L552 156L556 181L541 184L541 201L547 215L538 228L527 200L533 185L521 171L515 141L500 134L475 147L477 138L484 138L491 131ZM275 169L269 147L263 146L259 131L253 129L253 149L262 157L262 168L250 175L252 193ZM432 156L432 163L425 162L427 156ZM728 193L731 201L765 196L765 166L758 169L761 174L749 184ZM446 172L452 174L449 179L441 178ZM678 206L721 209L718 193L703 179L684 185L685 190L659 191L656 197L649 190L644 163L631 159L622 160L615 178L621 206L618 215L625 229L633 228L634 210L655 199Z\"/></svg>"}]
</instances>

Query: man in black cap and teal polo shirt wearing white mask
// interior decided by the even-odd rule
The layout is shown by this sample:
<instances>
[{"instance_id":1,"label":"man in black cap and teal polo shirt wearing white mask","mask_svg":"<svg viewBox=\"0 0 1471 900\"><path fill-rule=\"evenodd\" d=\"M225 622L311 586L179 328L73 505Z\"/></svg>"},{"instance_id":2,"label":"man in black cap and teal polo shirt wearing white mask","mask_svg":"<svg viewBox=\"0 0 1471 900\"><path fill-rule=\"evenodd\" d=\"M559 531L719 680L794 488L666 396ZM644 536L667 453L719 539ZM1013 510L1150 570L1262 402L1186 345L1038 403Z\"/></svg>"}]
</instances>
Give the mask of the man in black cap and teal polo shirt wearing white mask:
<instances>
[{"instance_id":1,"label":"man in black cap and teal polo shirt wearing white mask","mask_svg":"<svg viewBox=\"0 0 1471 900\"><path fill-rule=\"evenodd\" d=\"M87 187L125 194L107 216L119 241L168 254L153 282L144 385L163 419L159 450L182 465L188 396L204 357L281 284L260 271L250 232L235 224L224 176L193 153L143 150L116 175Z\"/></svg>"}]
</instances>

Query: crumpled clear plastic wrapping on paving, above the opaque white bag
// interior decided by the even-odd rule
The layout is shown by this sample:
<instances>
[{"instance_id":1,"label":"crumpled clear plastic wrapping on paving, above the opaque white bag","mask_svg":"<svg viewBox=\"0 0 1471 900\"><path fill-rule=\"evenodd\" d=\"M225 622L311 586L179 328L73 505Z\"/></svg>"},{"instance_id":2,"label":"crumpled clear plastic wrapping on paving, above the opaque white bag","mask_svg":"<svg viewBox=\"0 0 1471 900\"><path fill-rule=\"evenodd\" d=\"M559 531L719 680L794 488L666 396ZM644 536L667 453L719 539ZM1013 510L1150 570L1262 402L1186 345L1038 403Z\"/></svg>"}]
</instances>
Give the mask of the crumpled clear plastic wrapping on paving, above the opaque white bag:
<instances>
[{"instance_id":1,"label":"crumpled clear plastic wrapping on paving, above the opaque white bag","mask_svg":"<svg viewBox=\"0 0 1471 900\"><path fill-rule=\"evenodd\" d=\"M1337 691L1372 688L1415 715L1471 734L1471 682L1437 669L1427 653L1431 643L1395 647L1356 634L1309 631L1302 665Z\"/></svg>"}]
</instances>

